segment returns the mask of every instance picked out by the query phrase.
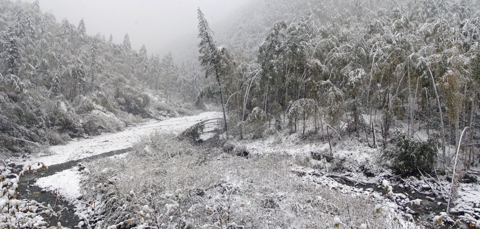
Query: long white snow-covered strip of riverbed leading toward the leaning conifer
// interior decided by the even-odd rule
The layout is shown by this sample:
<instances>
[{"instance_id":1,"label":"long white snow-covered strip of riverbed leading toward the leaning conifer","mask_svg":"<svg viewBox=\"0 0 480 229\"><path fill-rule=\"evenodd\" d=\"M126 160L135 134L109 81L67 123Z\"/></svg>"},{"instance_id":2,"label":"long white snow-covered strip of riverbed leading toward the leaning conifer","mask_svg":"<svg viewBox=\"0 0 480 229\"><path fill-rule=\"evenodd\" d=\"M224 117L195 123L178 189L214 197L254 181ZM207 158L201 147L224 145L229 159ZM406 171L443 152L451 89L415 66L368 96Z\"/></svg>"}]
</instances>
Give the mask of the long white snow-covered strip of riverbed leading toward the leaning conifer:
<instances>
[{"instance_id":1,"label":"long white snow-covered strip of riverbed leading toward the leaning conifer","mask_svg":"<svg viewBox=\"0 0 480 229\"><path fill-rule=\"evenodd\" d=\"M43 162L47 166L61 164L101 153L130 148L140 139L155 132L179 134L195 123L219 117L221 117L219 112L204 112L198 115L171 118L160 122L151 121L145 125L129 127L122 132L106 133L88 139L74 139L67 145L51 147L51 155L33 155L25 161L14 161L14 163L23 164L24 166L29 166L36 162Z\"/></svg>"}]
</instances>

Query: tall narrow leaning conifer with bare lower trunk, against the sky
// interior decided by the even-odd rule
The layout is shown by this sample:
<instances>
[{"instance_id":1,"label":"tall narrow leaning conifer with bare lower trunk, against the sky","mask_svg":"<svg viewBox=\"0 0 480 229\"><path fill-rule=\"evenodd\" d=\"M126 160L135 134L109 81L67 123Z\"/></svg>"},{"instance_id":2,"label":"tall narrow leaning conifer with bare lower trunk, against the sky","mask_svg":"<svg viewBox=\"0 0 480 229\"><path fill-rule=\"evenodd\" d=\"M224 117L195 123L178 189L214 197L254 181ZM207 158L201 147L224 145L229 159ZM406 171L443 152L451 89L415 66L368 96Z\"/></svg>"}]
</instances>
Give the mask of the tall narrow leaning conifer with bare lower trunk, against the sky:
<instances>
[{"instance_id":1,"label":"tall narrow leaning conifer with bare lower trunk, against the sky","mask_svg":"<svg viewBox=\"0 0 480 229\"><path fill-rule=\"evenodd\" d=\"M198 8L198 38L201 39L200 44L198 47L200 48L198 51L200 53L200 57L198 58L200 64L203 66L205 70L205 77L213 75L217 78L218 86L220 89L220 102L222 103L222 111L223 111L223 118L225 123L225 132L228 138L228 127L227 127L227 114L225 111L225 105L223 101L223 93L222 93L222 84L220 83L220 75L226 75L228 73L225 72L226 69L223 68L223 62L221 53L228 52L225 47L221 49L217 48L217 41L213 39L213 31L210 30L208 26L208 22L205 19L200 8Z\"/></svg>"}]
</instances>

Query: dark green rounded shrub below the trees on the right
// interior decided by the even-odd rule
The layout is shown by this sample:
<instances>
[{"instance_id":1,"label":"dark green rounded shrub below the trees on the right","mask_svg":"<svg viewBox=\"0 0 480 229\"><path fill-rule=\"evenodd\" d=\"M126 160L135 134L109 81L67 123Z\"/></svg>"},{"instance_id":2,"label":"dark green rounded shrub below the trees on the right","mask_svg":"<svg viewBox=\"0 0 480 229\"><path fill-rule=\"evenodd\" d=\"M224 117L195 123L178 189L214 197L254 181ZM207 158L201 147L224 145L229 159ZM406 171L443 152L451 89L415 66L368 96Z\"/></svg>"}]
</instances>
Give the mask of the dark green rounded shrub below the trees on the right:
<instances>
[{"instance_id":1,"label":"dark green rounded shrub below the trees on the right","mask_svg":"<svg viewBox=\"0 0 480 229\"><path fill-rule=\"evenodd\" d=\"M418 175L418 170L431 172L437 161L436 141L417 141L400 133L393 150L386 151L392 167L402 175Z\"/></svg>"}]
</instances>

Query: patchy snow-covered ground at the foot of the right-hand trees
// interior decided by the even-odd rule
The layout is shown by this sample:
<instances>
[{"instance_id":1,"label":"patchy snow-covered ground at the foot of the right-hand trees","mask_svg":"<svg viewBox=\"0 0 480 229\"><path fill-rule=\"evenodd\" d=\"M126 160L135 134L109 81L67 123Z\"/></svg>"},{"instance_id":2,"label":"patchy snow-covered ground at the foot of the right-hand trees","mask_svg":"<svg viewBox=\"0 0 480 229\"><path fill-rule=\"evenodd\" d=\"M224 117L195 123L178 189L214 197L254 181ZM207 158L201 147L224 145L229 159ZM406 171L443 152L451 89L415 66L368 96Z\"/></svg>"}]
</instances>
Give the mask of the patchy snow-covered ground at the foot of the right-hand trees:
<instances>
[{"instance_id":1,"label":"patchy snow-covered ground at the foot of the right-hand trees","mask_svg":"<svg viewBox=\"0 0 480 229\"><path fill-rule=\"evenodd\" d=\"M417 132L418 133L418 132ZM419 139L427 139L425 133L417 136ZM249 153L249 155L290 155L294 158L298 164L305 167L315 168L317 171L325 172L326 174L334 174L338 176L344 176L349 183L367 184L374 187L376 184L380 184L384 179L393 179L393 171L381 166L382 160L379 161L382 154L378 149L370 148L366 143L359 142L355 139L344 140L338 142L332 147L333 152L330 153L328 143L322 143L322 141L302 140L301 136L283 135L277 134L277 136L269 136L264 139L257 139L254 141L243 140L234 142L235 149L241 149ZM317 158L313 158L314 154L320 155ZM333 159L327 162L326 157L331 156ZM320 160L319 160L320 159ZM473 172L476 170L471 169ZM476 172L477 173L477 172ZM478 172L480 173L480 171ZM470 174L476 177L476 180L480 180L480 176ZM425 174L425 176L427 176ZM402 190L408 190L409 186L414 186L411 193L415 193L415 190L421 190L425 192L425 195L418 195L418 197L425 196L422 202L423 208L430 208L430 205L426 205L428 202L436 203L441 202L439 205L445 206L446 200L442 197L448 194L442 194L442 190L449 190L451 182L447 181L446 175L439 176L440 180L416 177L405 177L395 182ZM430 178L430 177L428 177ZM443 187L438 186L441 183ZM430 191L430 186L434 186L437 191ZM334 187L332 187L334 188ZM396 189L394 189L396 191ZM399 190L399 192L402 192ZM438 196L436 195L438 193ZM400 193L401 198L399 203L408 202L408 198L413 196L405 196L404 193ZM436 196L432 198L429 196ZM417 198L418 198L417 197ZM457 212L459 215L464 213L470 214L473 218L480 218L480 183L461 183L458 189L458 198L454 202L455 207L452 208L452 212ZM440 208L441 209L441 208ZM446 211L446 210L444 210ZM410 209L406 209L405 213L412 212ZM433 215L439 215L440 212L432 212ZM431 219L423 219L431 222ZM480 225L479 225L480 226Z\"/></svg>"}]
</instances>

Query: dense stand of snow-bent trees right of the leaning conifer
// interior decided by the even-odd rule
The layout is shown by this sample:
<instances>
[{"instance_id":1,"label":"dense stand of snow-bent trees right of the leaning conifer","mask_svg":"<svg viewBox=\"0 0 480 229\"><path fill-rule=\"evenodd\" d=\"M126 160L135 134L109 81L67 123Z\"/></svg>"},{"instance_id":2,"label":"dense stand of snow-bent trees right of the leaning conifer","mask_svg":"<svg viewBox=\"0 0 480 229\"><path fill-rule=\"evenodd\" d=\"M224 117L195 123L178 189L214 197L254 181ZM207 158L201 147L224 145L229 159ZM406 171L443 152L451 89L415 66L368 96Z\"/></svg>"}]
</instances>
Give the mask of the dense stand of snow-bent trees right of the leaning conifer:
<instances>
[{"instance_id":1,"label":"dense stand of snow-bent trees right of the leaning conifer","mask_svg":"<svg viewBox=\"0 0 480 229\"><path fill-rule=\"evenodd\" d=\"M251 126L264 120L290 132L362 136L383 147L397 123L408 136L438 138L444 158L456 150L463 127L472 127L466 139L473 141L479 2L342 2L348 6L342 14L326 13L338 10L320 1L297 22L277 21L253 61L231 55L222 80L232 132L258 136Z\"/></svg>"}]
</instances>

